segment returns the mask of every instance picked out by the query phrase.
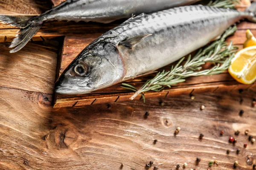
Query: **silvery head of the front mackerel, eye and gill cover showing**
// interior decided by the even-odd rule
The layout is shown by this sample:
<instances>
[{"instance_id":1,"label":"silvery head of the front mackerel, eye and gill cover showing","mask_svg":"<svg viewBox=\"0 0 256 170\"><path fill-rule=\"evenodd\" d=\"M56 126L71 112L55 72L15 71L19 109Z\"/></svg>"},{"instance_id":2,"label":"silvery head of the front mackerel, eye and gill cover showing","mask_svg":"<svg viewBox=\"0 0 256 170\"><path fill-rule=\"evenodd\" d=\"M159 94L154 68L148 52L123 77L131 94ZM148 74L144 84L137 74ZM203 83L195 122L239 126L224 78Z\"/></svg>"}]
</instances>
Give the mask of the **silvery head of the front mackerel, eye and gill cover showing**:
<instances>
[{"instance_id":1,"label":"silvery head of the front mackerel, eye and gill cover showing","mask_svg":"<svg viewBox=\"0 0 256 170\"><path fill-rule=\"evenodd\" d=\"M89 45L70 63L55 83L59 94L86 94L122 81L122 57L115 45Z\"/></svg>"}]
</instances>

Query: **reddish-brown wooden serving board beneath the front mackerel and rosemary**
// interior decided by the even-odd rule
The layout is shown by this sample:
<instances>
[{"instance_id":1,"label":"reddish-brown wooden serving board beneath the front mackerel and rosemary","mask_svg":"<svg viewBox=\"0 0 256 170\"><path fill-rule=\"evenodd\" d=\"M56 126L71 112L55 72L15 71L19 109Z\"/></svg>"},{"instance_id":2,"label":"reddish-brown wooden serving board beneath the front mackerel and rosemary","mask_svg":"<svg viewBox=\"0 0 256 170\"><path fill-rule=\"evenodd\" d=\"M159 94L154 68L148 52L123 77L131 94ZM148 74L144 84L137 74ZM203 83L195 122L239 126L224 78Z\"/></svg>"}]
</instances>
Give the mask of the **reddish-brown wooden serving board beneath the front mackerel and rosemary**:
<instances>
[{"instance_id":1,"label":"reddish-brown wooden serving board beneath the front mackerel and rosemary","mask_svg":"<svg viewBox=\"0 0 256 170\"><path fill-rule=\"evenodd\" d=\"M233 43L242 48L242 44L246 40L245 31L249 29L256 34L256 24L243 22L238 25L238 31L227 39L227 42L231 40ZM99 28L101 30L101 28ZM81 34L81 35L68 35L64 38L64 45L62 49L61 58L59 59L58 76L64 71L64 69L73 61L73 59L86 47L90 42L99 37L104 31L95 34ZM175 64L175 63L174 63ZM172 65L168 65L160 70L169 70ZM208 68L211 65L205 65L204 68ZM146 80L152 78L154 74L137 77L126 81L140 88ZM99 91L94 91L90 94L84 95L61 95L56 94L55 108L61 107L78 107L81 105L93 105L108 102L122 102L127 101L133 94L131 91L120 87L121 83L113 85L108 88L104 88ZM187 78L186 82L174 85L172 88L166 88L161 92L146 92L145 97L170 97L177 95L189 95L196 93L206 92L220 92L220 91L232 91L236 89L256 89L256 85L242 85L236 82L230 75L225 72L219 75L191 77ZM141 99L141 96L137 96L137 100Z\"/></svg>"}]
</instances>

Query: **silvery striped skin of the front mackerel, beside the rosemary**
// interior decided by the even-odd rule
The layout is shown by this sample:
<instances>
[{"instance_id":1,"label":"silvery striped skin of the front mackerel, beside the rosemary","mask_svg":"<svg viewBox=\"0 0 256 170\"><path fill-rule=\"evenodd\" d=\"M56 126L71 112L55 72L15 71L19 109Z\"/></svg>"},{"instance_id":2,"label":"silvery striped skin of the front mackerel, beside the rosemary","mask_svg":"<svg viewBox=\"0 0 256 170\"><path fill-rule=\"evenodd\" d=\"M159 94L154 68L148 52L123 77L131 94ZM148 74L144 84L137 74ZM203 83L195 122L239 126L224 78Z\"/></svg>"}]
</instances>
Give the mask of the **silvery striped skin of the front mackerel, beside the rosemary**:
<instances>
[{"instance_id":1,"label":"silvery striped skin of the front mackerel, beside the rosemary","mask_svg":"<svg viewBox=\"0 0 256 170\"><path fill-rule=\"evenodd\" d=\"M56 92L85 94L154 71L207 45L243 18L255 19L251 12L209 6L141 14L88 45L58 79ZM132 47L123 45L140 35L147 37ZM88 56L101 62L91 65L92 57L86 75L74 74L77 63L87 63Z\"/></svg>"}]
</instances>

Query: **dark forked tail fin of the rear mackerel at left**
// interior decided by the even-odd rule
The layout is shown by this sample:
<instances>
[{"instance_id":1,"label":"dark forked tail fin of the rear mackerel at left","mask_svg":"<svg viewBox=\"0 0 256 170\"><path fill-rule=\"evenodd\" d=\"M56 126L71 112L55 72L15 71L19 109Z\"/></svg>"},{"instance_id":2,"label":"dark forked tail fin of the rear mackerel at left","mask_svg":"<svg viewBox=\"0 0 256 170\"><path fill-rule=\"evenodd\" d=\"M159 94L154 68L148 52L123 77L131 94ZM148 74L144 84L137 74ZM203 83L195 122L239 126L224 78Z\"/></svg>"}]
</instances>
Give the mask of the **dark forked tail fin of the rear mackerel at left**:
<instances>
[{"instance_id":1,"label":"dark forked tail fin of the rear mackerel at left","mask_svg":"<svg viewBox=\"0 0 256 170\"><path fill-rule=\"evenodd\" d=\"M37 33L41 28L42 22L33 22L35 16L11 16L0 15L0 23L9 24L20 28L17 32L16 38L12 41L9 48L14 48L10 53L15 53L23 48L29 40Z\"/></svg>"}]
</instances>

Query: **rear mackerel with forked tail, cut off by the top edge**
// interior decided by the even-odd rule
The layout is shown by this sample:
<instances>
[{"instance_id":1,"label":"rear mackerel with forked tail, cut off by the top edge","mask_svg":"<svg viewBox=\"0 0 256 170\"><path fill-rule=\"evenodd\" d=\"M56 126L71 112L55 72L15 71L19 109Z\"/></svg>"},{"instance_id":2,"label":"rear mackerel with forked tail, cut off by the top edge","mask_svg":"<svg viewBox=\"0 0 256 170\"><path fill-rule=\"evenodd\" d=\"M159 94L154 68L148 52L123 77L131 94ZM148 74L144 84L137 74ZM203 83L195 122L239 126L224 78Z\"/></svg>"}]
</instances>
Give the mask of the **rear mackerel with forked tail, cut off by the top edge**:
<instances>
[{"instance_id":1,"label":"rear mackerel with forked tail, cut off by the top edge","mask_svg":"<svg viewBox=\"0 0 256 170\"><path fill-rule=\"evenodd\" d=\"M10 48L16 47L10 51L14 53L23 48L47 21L110 23L130 18L132 14L152 13L197 1L199 0L66 0L36 17L0 15L0 21L21 28L18 37L10 45Z\"/></svg>"}]
</instances>

